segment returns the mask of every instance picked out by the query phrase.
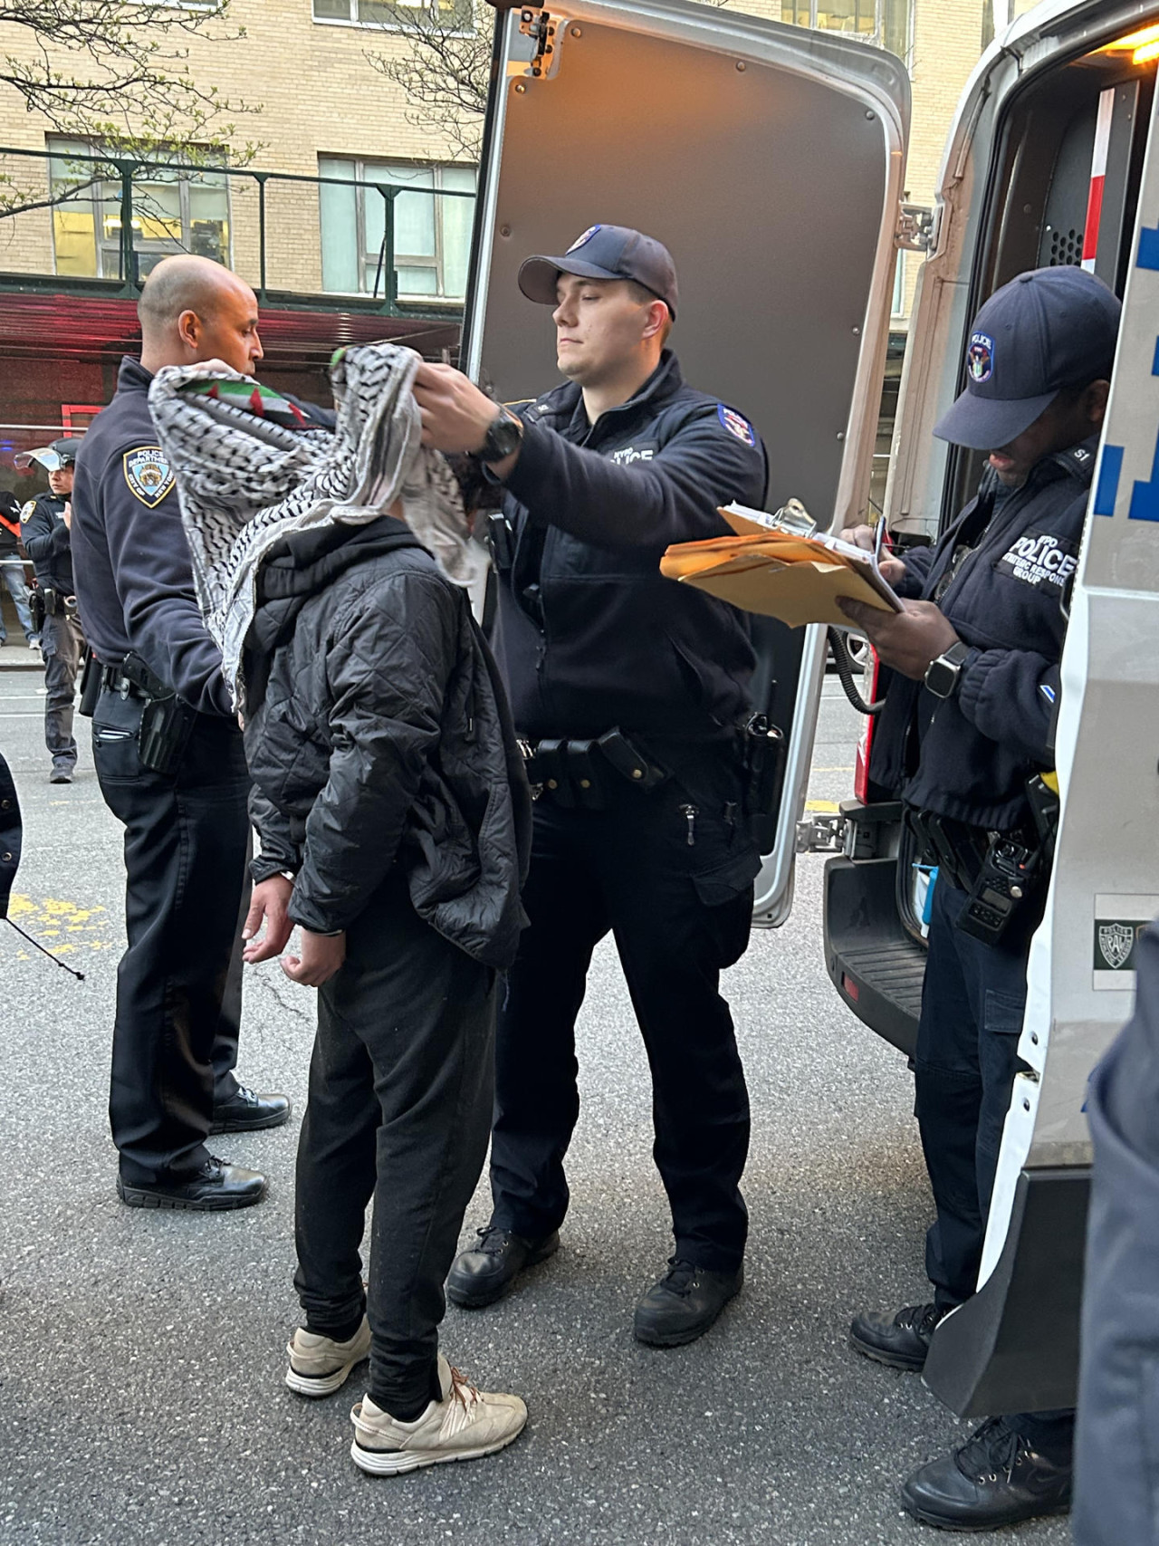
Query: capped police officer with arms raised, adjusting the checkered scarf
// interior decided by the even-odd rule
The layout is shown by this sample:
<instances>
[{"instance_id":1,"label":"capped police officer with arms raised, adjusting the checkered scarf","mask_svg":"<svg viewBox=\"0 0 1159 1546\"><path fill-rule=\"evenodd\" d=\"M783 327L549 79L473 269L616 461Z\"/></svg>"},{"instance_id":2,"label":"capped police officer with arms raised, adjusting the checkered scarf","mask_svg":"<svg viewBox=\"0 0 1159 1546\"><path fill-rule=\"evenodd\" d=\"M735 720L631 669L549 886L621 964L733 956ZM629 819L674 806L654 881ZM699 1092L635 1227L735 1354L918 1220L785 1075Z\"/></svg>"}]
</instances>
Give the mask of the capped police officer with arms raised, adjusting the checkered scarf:
<instances>
[{"instance_id":1,"label":"capped police officer with arms raised, adjusting the checkered scarf","mask_svg":"<svg viewBox=\"0 0 1159 1546\"><path fill-rule=\"evenodd\" d=\"M499 413L450 366L422 366L423 436L481 456L504 485L496 652L535 756L532 869L499 1019L493 1214L459 1257L459 1305L498 1299L558 1245L576 1122L575 1020L612 932L652 1070L655 1161L675 1251L635 1334L706 1331L742 1283L748 1095L720 971L745 951L759 853L745 827L737 725L753 651L740 614L658 574L669 543L760 504L753 427L685 385L664 348L677 311L658 241L593 226L529 258L553 308L566 385Z\"/></svg>"}]
</instances>

